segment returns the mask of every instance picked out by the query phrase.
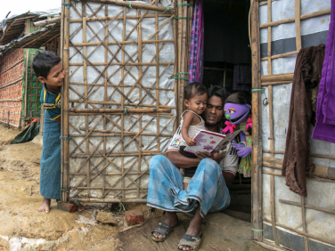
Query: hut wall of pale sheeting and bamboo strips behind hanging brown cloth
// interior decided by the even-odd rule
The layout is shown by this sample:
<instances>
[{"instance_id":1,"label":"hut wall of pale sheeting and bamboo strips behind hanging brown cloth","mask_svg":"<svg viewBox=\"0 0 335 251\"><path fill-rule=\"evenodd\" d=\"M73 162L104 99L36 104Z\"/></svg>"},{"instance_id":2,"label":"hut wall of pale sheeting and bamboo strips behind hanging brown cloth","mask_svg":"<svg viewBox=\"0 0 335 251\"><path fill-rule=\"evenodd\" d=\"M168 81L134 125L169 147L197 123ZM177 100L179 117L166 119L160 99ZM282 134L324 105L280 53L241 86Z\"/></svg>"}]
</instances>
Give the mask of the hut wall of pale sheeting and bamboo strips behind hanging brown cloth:
<instances>
[{"instance_id":1,"label":"hut wall of pale sheeting and bamboo strips behind hanging brown cloth","mask_svg":"<svg viewBox=\"0 0 335 251\"><path fill-rule=\"evenodd\" d=\"M329 175L335 172L335 144L310 140L317 168L314 177L307 180L307 198L290 191L281 176L297 53L326 43L331 0L269 0L259 5L259 80L265 92L257 99L262 121L263 167L259 167L263 173L260 206L264 238L258 240L292 250L335 250L335 177ZM269 77L272 79L266 80ZM262 102L266 99L268 105ZM310 138L312 126L309 131Z\"/></svg>"}]
</instances>

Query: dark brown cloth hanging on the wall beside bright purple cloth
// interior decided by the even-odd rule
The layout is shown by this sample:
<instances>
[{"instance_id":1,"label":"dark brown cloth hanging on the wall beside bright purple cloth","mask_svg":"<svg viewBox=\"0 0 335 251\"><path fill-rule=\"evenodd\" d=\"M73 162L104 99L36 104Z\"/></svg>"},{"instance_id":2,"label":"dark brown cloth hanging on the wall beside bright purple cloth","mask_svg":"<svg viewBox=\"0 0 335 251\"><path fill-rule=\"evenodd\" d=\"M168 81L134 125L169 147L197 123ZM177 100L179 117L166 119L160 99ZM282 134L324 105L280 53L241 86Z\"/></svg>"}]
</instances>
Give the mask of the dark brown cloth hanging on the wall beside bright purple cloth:
<instances>
[{"instance_id":1,"label":"dark brown cloth hanging on the wall beside bright purple cloth","mask_svg":"<svg viewBox=\"0 0 335 251\"><path fill-rule=\"evenodd\" d=\"M307 197L306 172L315 166L309 159L308 125L315 125L316 99L323 69L324 45L301 49L290 94L289 128L282 162L282 175L290 190Z\"/></svg>"}]
</instances>

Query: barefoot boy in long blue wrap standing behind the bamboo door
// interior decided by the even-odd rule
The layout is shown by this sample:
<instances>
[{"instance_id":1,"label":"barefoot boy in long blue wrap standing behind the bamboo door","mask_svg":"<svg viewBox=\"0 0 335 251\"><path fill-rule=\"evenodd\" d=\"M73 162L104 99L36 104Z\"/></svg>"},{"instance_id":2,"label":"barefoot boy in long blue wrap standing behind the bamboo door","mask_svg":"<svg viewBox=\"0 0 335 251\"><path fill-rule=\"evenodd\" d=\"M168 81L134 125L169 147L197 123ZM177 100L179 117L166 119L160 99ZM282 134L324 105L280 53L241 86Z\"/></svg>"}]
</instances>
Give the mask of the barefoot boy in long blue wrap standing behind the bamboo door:
<instances>
[{"instance_id":1,"label":"barefoot boy in long blue wrap standing behind the bamboo door","mask_svg":"<svg viewBox=\"0 0 335 251\"><path fill-rule=\"evenodd\" d=\"M40 193L42 206L38 212L49 213L51 199L61 198L61 85L64 71L61 58L52 52L37 53L33 68L44 87L41 103L45 108L43 149L41 157Z\"/></svg>"}]
</instances>

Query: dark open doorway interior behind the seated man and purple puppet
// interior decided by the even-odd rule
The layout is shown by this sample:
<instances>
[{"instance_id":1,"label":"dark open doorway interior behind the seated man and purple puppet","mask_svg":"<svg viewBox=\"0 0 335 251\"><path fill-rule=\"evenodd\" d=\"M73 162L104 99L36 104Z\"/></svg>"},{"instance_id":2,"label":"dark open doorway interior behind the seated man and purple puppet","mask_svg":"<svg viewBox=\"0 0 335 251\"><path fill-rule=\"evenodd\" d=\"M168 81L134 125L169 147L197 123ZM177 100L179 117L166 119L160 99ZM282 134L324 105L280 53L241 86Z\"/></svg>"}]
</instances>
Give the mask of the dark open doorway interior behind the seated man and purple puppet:
<instances>
[{"instance_id":1,"label":"dark open doorway interior behind the seated man and purple puppet","mask_svg":"<svg viewBox=\"0 0 335 251\"><path fill-rule=\"evenodd\" d=\"M249 44L250 1L203 3L203 84L220 85L229 93L251 93L251 50ZM236 174L229 187L228 209L251 213L251 178Z\"/></svg>"}]
</instances>

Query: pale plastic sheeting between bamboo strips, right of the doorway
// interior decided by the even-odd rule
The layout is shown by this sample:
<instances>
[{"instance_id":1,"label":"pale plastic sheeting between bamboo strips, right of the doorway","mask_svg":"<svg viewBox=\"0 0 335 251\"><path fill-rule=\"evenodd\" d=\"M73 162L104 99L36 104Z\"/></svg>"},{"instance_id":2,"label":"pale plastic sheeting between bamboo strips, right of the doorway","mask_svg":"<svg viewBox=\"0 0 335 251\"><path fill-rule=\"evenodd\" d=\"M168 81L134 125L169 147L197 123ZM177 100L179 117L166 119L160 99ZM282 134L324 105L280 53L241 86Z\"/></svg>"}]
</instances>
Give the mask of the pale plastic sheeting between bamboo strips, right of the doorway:
<instances>
[{"instance_id":1,"label":"pale plastic sheeting between bamboo strips, right of the doorway","mask_svg":"<svg viewBox=\"0 0 335 251\"><path fill-rule=\"evenodd\" d=\"M272 20L282 20L294 17L294 1L281 0L272 4ZM301 1L301 14L317 12L331 7L330 0L306 0ZM260 23L267 22L266 5L259 8ZM330 24L330 14L320 17L301 20L301 35L313 35L319 32L327 31ZM267 43L267 28L261 28L261 43ZM272 28L272 39L280 40L295 37L295 24L287 23ZM294 40L295 41L295 40ZM282 44L282 46L284 43ZM319 45L319 44L315 44ZM294 71L296 55L276 59L272 61L272 74L289 73ZM261 74L267 75L267 61L261 62ZM284 151L286 142L286 131L289 124L290 111L290 93L291 85L274 85L274 150ZM265 93L262 93L262 100L268 97L268 88L265 87ZM270 150L270 125L269 125L269 106L262 105L262 139L263 149ZM309 135L312 134L313 127L310 126ZM335 155L335 144L310 140L311 152L323 155ZM269 154L264 154L269 156ZM274 158L283 158L282 154L274 154ZM335 168L335 161L328 158L315 158L315 165L330 166ZM270 171L269 168L263 167L263 170ZM322 206L333 209L335 204L335 183L307 181L308 197L306 205ZM302 215L299 206L290 206L282 204L279 199L286 199L301 203L301 198L291 192L285 185L285 178L274 176L274 208L275 221L288 227L303 231ZM271 219L270 205L270 175L263 174L263 215ZM335 231L335 215L318 212L314 209L306 209L306 230L309 234L322 237L323 239L333 240ZM286 231L286 230L283 230ZM331 249L332 250L332 249Z\"/></svg>"}]
</instances>

